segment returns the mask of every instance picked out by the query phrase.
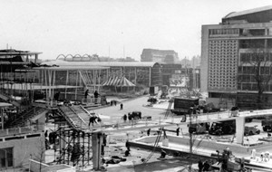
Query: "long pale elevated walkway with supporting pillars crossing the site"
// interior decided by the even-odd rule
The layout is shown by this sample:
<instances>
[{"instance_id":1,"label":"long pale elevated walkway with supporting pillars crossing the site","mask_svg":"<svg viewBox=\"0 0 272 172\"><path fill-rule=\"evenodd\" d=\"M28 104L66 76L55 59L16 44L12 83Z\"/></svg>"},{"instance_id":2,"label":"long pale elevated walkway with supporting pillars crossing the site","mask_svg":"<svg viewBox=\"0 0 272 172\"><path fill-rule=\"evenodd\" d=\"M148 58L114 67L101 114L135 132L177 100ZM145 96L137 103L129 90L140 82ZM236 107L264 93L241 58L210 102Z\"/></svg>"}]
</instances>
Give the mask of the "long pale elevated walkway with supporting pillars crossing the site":
<instances>
[{"instance_id":1,"label":"long pale elevated walkway with supporting pillars crossing the site","mask_svg":"<svg viewBox=\"0 0 272 172\"><path fill-rule=\"evenodd\" d=\"M97 144L92 148L92 156L95 159L93 164L99 168L101 153L102 153L102 135L110 135L113 133L126 133L133 130L142 129L167 129L176 125L188 125L189 123L203 123L203 122L216 122L228 119L236 120L236 145L244 147L244 128L246 119L267 117L272 115L272 110L251 110L240 111L235 116L231 111L214 112L214 113L202 113L198 118L193 115L187 115L187 121L180 122L180 118L157 118L157 119L139 119L134 121L124 122L120 117L112 117L103 119L104 122L97 124L95 127L88 129L88 132L92 133L92 144ZM162 137L161 137L162 138ZM153 143L154 144L154 143ZM188 146L187 146L188 147ZM188 149L188 148L185 148ZM215 151L215 150L214 150ZM94 160L93 159L93 160ZM264 165L265 166L265 165ZM95 167L95 166L94 166Z\"/></svg>"}]
</instances>

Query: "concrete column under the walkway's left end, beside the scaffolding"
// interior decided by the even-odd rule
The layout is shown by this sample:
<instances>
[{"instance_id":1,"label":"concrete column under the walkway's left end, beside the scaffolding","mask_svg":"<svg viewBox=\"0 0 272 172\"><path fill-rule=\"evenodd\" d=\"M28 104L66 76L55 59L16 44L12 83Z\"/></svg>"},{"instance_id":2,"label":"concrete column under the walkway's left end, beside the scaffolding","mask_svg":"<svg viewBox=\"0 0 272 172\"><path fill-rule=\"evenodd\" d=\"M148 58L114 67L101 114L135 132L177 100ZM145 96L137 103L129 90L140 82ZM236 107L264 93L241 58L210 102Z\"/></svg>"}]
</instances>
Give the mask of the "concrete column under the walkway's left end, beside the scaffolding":
<instances>
[{"instance_id":1,"label":"concrete column under the walkway's left end, beside the scaffolding","mask_svg":"<svg viewBox=\"0 0 272 172\"><path fill-rule=\"evenodd\" d=\"M101 169L102 132L92 133L92 166L94 170Z\"/></svg>"}]
</instances>

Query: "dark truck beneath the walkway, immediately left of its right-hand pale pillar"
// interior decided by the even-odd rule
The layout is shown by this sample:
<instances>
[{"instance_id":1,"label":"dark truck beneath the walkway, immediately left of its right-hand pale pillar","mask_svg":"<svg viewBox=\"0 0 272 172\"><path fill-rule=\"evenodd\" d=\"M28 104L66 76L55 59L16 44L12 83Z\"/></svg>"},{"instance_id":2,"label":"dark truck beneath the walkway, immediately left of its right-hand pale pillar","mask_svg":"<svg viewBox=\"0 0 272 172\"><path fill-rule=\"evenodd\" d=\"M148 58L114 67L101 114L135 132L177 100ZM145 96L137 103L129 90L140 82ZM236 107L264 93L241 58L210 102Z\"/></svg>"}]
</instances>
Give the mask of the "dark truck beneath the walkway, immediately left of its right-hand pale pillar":
<instances>
[{"instance_id":1,"label":"dark truck beneath the walkway, immediately left of its right-hand pale pillar","mask_svg":"<svg viewBox=\"0 0 272 172\"><path fill-rule=\"evenodd\" d=\"M213 122L209 128L210 135L228 135L235 134L236 122L235 119Z\"/></svg>"}]
</instances>

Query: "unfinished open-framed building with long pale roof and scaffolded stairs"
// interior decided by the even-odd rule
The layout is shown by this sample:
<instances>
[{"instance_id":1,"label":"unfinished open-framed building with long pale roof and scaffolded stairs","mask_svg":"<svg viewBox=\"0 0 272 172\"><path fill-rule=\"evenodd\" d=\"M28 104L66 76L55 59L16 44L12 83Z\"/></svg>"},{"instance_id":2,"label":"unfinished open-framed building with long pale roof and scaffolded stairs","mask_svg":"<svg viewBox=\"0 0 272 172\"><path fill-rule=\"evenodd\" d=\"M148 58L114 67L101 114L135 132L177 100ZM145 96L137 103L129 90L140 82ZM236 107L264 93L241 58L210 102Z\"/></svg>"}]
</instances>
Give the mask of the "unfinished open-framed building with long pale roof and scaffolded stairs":
<instances>
[{"instance_id":1,"label":"unfinished open-framed building with long pale roof and scaffolded stairs","mask_svg":"<svg viewBox=\"0 0 272 172\"><path fill-rule=\"evenodd\" d=\"M99 168L106 136L90 131L89 119L97 117L83 106L107 103L102 96L93 97L93 91L138 91L141 85L162 85L160 64L63 60L38 63L39 54L0 52L0 168L22 167L29 164L28 159L31 167L40 167L47 142L54 145L56 164L84 167L92 158L93 167ZM87 90L91 96L86 98ZM71 100L81 103L69 106ZM60 101L63 106L58 106ZM48 114L55 129L47 140L44 124Z\"/></svg>"}]
</instances>

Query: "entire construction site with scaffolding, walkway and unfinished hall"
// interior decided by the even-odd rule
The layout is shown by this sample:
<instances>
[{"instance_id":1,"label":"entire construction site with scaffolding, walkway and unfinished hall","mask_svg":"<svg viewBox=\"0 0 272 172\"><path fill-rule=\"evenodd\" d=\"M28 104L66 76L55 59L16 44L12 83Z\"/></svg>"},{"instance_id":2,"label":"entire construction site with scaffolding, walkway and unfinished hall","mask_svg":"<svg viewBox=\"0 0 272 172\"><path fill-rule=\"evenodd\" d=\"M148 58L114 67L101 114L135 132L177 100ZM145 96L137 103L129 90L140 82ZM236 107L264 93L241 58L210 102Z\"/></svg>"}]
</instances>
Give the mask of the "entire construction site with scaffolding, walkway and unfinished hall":
<instances>
[{"instance_id":1,"label":"entire construction site with scaffolding, walkway and unfinished hall","mask_svg":"<svg viewBox=\"0 0 272 172\"><path fill-rule=\"evenodd\" d=\"M262 122L272 110L208 107L186 88L151 97L138 86L160 82L154 62L39 63L39 54L0 51L3 171L272 170Z\"/></svg>"}]
</instances>

